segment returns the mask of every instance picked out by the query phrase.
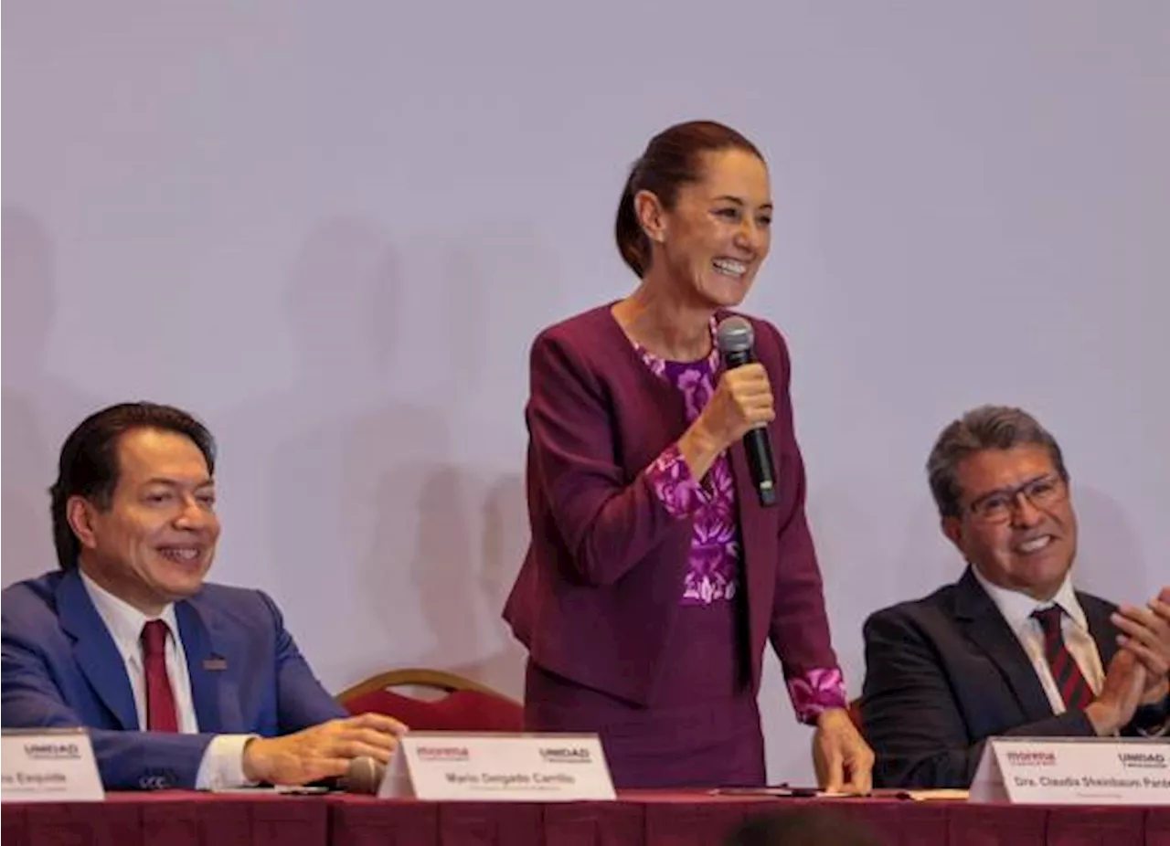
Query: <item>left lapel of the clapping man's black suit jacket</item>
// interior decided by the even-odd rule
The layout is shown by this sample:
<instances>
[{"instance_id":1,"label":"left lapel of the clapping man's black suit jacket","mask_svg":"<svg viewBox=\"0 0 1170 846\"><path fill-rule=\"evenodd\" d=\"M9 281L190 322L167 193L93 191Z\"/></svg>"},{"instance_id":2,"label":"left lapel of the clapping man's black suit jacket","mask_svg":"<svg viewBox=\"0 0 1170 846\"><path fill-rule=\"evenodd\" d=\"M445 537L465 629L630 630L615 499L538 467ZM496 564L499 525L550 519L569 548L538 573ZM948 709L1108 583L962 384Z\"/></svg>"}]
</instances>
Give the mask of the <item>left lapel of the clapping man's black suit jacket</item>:
<instances>
[{"instance_id":1,"label":"left lapel of the clapping man's black suit jacket","mask_svg":"<svg viewBox=\"0 0 1170 846\"><path fill-rule=\"evenodd\" d=\"M976 580L971 568L955 592L956 617L964 624L968 639L983 649L1007 681L1028 722L1052 716L1052 703L1044 692L1032 660L999 608Z\"/></svg>"}]
</instances>

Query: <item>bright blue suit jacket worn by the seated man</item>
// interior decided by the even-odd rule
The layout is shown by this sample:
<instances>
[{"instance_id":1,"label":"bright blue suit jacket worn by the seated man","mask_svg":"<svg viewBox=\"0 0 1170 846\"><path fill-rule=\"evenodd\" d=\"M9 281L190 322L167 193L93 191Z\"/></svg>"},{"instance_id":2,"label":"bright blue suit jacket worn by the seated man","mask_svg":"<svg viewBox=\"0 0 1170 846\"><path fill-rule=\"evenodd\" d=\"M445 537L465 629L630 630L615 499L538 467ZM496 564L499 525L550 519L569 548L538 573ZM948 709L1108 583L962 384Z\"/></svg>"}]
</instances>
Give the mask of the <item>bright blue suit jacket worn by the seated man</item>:
<instances>
[{"instance_id":1,"label":"bright blue suit jacket worn by the seated man","mask_svg":"<svg viewBox=\"0 0 1170 846\"><path fill-rule=\"evenodd\" d=\"M84 725L108 790L191 789L214 735L345 716L262 592L207 584L174 611L201 734L139 730L125 663L76 570L0 591L0 727Z\"/></svg>"}]
</instances>

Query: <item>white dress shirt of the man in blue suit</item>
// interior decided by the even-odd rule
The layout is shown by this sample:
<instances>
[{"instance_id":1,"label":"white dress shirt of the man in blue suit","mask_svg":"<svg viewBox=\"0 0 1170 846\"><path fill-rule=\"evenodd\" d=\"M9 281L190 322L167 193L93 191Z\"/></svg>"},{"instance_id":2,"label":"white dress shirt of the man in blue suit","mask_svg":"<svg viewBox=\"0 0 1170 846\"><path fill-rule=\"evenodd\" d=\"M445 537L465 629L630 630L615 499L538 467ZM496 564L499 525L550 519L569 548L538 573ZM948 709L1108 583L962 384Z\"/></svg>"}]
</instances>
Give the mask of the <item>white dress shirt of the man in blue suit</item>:
<instances>
[{"instance_id":1,"label":"white dress shirt of the man in blue suit","mask_svg":"<svg viewBox=\"0 0 1170 846\"><path fill-rule=\"evenodd\" d=\"M142 632L152 618L146 617L129 603L118 599L104 587L81 573L82 584L102 621L113 638L115 646L126 665L130 676L130 688L135 694L135 709L138 711L138 725L146 725L146 676L143 662ZM195 703L191 695L191 673L187 669L187 653L179 639L179 621L174 615L174 606L167 605L157 619L163 620L171 630L166 639L166 675L174 693L174 707L178 710L179 731L185 735L199 734L199 718L195 716ZM243 776L243 747L255 735L215 735L204 752L195 776L197 790L220 790L253 784Z\"/></svg>"}]
</instances>

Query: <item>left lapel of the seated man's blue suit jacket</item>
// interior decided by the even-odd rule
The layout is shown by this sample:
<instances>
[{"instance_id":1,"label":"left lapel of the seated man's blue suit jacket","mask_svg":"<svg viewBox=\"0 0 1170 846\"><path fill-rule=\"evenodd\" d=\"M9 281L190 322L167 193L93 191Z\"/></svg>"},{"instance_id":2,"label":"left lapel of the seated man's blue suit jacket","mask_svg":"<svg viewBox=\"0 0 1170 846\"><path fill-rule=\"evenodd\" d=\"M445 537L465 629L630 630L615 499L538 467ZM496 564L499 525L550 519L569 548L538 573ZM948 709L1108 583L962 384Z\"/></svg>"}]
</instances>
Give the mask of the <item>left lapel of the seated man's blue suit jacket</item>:
<instances>
[{"instance_id":1,"label":"left lapel of the seated man's blue suit jacket","mask_svg":"<svg viewBox=\"0 0 1170 846\"><path fill-rule=\"evenodd\" d=\"M74 658L102 703L125 731L138 730L138 709L126 665L75 568L57 585L61 627L74 639Z\"/></svg>"}]
</instances>

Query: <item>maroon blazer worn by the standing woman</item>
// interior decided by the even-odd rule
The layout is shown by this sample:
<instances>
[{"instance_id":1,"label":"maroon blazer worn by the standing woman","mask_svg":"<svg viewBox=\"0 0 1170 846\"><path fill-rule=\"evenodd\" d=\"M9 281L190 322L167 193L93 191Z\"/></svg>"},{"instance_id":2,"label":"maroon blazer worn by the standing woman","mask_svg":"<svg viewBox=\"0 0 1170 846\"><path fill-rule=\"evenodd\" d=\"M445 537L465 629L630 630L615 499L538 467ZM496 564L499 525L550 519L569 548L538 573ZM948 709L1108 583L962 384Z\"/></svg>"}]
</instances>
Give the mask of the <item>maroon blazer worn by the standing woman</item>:
<instances>
[{"instance_id":1,"label":"maroon blazer worn by the standing woman","mask_svg":"<svg viewBox=\"0 0 1170 846\"><path fill-rule=\"evenodd\" d=\"M687 419L682 394L649 371L610 309L571 317L532 344L525 410L532 539L504 619L539 666L653 704L655 669L682 597L691 521L667 514L642 469L682 435ZM730 449L758 692L769 639L785 676L837 667L837 656L805 521L787 350L775 326L748 319L776 394L769 426L776 507L759 505L743 445Z\"/></svg>"}]
</instances>

